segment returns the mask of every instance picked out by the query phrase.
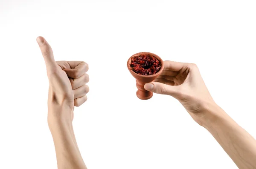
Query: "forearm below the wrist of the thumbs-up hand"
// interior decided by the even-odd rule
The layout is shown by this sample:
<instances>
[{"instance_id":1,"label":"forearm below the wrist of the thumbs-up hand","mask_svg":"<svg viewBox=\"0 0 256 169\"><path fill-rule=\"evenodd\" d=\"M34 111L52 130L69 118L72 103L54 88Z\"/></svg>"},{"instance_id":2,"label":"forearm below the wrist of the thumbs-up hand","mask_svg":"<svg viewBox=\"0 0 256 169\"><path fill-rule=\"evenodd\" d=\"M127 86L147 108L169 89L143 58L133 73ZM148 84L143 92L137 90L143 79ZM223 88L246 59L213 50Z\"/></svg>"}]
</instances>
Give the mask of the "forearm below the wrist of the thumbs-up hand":
<instances>
[{"instance_id":1,"label":"forearm below the wrist of the thumbs-up hand","mask_svg":"<svg viewBox=\"0 0 256 169\"><path fill-rule=\"evenodd\" d=\"M81 157L72 123L65 120L48 120L52 133L58 169L87 169Z\"/></svg>"}]
</instances>

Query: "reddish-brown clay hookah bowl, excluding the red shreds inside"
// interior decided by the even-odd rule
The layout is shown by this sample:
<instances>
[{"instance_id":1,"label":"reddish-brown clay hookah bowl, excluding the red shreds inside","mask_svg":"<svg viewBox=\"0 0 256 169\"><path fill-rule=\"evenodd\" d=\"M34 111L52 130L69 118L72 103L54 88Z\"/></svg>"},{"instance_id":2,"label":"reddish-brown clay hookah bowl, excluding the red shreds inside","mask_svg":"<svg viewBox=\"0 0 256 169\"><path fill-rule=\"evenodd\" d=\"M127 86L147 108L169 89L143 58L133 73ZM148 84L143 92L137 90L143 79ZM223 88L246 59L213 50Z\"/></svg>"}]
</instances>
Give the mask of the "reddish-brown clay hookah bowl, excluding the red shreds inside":
<instances>
[{"instance_id":1,"label":"reddish-brown clay hookah bowl, excluding the red shreds inside","mask_svg":"<svg viewBox=\"0 0 256 169\"><path fill-rule=\"evenodd\" d=\"M155 57L157 60L160 61L161 63L161 68L160 70L156 73L156 74L152 74L152 75L140 75L140 74L137 74L135 73L132 69L131 69L131 58L132 57L136 57L136 56L139 56L141 54L146 54L146 55L151 55L153 57ZM127 67L131 73L131 75L136 79L136 86L137 86L137 97L141 100L148 100L150 99L152 96L153 96L153 93L152 92L149 92L147 90L145 90L144 88L144 85L145 83L150 83L152 81L154 81L160 74L161 72L163 71L163 60L157 56L156 54L153 54L153 53L149 53L149 52L140 52L140 53L137 53L137 54L134 54L132 55L128 61L127 61Z\"/></svg>"}]
</instances>

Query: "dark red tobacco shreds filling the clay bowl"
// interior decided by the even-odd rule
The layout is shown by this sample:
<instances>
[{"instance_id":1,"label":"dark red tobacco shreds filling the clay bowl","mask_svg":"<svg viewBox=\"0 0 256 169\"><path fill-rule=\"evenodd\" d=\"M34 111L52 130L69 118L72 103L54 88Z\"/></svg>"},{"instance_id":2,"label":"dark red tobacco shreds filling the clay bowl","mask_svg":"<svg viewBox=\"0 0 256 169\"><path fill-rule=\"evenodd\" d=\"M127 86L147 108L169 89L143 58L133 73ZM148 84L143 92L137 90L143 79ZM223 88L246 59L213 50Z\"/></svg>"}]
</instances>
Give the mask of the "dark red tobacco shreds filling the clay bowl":
<instances>
[{"instance_id":1,"label":"dark red tobacco shreds filling the clay bowl","mask_svg":"<svg viewBox=\"0 0 256 169\"><path fill-rule=\"evenodd\" d=\"M131 58L130 66L135 73L147 76L156 74L161 68L161 63L149 54L141 54Z\"/></svg>"}]
</instances>

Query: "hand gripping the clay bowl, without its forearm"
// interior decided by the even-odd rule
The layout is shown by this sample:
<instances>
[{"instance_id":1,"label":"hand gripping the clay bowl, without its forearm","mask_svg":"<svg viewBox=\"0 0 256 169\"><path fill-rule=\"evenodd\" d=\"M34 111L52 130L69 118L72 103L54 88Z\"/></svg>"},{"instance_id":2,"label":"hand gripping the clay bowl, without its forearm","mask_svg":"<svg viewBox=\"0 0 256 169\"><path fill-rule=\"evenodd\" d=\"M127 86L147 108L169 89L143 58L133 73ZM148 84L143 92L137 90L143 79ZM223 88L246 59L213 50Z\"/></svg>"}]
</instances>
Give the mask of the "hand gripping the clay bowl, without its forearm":
<instances>
[{"instance_id":1,"label":"hand gripping the clay bowl, without its forearm","mask_svg":"<svg viewBox=\"0 0 256 169\"><path fill-rule=\"evenodd\" d=\"M215 105L198 67L193 63L164 61L163 72L154 82L146 83L144 88L175 97L200 125L207 112L204 108Z\"/></svg>"}]
</instances>

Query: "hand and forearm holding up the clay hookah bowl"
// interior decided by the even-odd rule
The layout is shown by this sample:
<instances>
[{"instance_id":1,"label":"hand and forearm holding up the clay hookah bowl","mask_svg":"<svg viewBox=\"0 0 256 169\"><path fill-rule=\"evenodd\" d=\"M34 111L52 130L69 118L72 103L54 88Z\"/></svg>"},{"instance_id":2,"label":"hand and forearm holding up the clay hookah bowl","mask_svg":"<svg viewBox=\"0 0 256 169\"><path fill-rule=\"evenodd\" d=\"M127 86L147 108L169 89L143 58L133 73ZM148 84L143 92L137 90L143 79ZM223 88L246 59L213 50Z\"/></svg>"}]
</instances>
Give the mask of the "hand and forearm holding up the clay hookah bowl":
<instances>
[{"instance_id":1,"label":"hand and forearm holding up the clay hookah bowl","mask_svg":"<svg viewBox=\"0 0 256 169\"><path fill-rule=\"evenodd\" d=\"M239 169L256 169L256 140L215 103L195 64L164 61L163 72L144 88L175 97Z\"/></svg>"}]
</instances>

